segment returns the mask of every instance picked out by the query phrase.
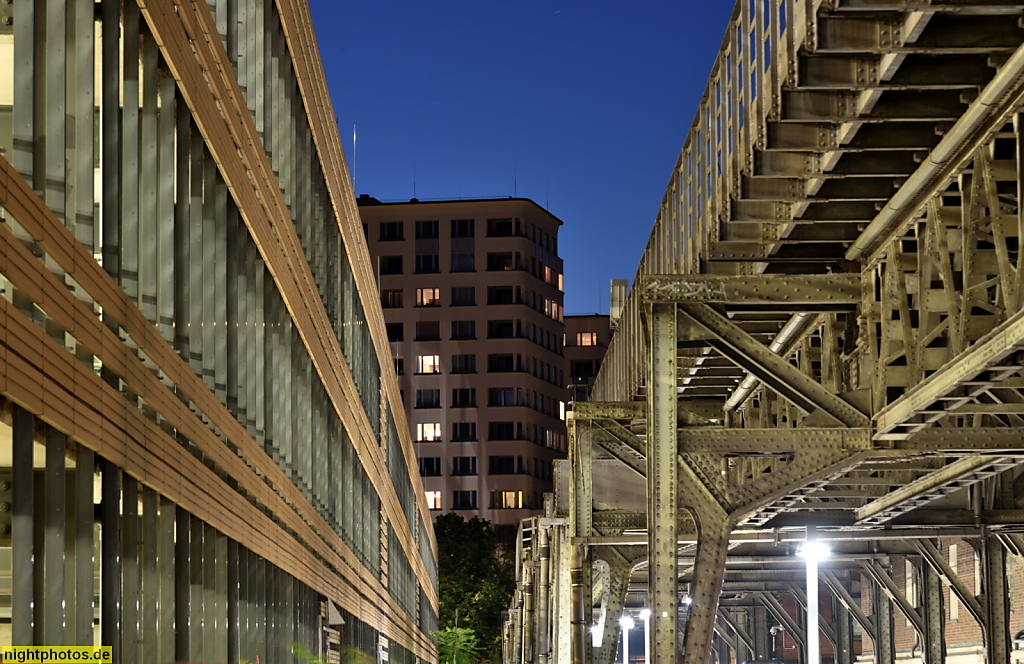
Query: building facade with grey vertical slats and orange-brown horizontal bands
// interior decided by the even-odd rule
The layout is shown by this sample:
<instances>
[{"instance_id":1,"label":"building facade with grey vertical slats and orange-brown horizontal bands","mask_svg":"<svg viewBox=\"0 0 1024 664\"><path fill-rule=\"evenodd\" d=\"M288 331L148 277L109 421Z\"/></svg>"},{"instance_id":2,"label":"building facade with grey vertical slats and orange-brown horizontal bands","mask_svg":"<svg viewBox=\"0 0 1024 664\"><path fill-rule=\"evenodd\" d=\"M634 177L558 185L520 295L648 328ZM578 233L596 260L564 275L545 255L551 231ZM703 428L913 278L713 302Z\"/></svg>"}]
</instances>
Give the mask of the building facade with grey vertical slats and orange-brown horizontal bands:
<instances>
[{"instance_id":1,"label":"building facade with grey vertical slats and orange-brown horizontal bands","mask_svg":"<svg viewBox=\"0 0 1024 664\"><path fill-rule=\"evenodd\" d=\"M305 3L2 3L0 147L0 642L432 661Z\"/></svg>"}]
</instances>

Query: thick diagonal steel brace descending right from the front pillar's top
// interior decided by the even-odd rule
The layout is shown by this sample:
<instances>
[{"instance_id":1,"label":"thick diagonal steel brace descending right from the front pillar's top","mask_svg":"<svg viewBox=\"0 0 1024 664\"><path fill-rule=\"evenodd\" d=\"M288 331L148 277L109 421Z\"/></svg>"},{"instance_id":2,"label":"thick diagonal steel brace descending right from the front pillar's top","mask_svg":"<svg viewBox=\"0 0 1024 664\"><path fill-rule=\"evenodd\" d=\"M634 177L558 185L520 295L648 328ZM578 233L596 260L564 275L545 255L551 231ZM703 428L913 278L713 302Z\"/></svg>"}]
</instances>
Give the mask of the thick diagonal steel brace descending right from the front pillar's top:
<instances>
[{"instance_id":1,"label":"thick diagonal steel brace descending right from the front pillar's top","mask_svg":"<svg viewBox=\"0 0 1024 664\"><path fill-rule=\"evenodd\" d=\"M870 419L816 380L772 352L738 325L707 304L680 304L685 318L706 330L710 343L729 360L770 386L801 410L820 410L850 427L867 427Z\"/></svg>"}]
</instances>

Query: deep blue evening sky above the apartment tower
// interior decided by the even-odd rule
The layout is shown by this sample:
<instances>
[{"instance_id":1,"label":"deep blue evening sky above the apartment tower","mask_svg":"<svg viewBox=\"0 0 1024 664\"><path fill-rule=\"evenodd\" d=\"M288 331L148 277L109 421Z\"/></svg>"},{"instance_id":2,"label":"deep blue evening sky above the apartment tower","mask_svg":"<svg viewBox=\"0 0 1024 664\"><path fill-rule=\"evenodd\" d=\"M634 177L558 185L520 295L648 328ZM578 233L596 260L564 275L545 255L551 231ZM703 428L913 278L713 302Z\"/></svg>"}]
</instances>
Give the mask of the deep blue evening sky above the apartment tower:
<instances>
[{"instance_id":1,"label":"deep blue evening sky above the apartment tower","mask_svg":"<svg viewBox=\"0 0 1024 664\"><path fill-rule=\"evenodd\" d=\"M607 313L610 281L636 272L733 3L310 5L356 194L530 198L565 222L565 313Z\"/></svg>"}]
</instances>

